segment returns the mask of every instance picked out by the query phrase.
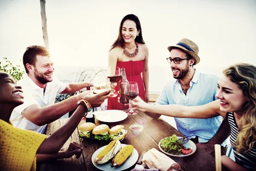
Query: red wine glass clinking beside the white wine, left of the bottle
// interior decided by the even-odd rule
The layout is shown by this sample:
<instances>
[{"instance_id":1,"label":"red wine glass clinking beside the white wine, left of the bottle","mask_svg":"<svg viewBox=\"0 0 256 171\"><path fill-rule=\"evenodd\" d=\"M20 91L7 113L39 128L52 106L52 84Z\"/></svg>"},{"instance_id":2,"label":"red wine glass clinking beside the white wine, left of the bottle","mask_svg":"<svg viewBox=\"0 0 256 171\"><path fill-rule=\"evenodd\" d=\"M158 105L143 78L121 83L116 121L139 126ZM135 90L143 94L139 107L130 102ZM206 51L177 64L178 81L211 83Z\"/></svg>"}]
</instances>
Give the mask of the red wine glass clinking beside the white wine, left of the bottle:
<instances>
[{"instance_id":1,"label":"red wine glass clinking beside the white wine, left of the bottle","mask_svg":"<svg viewBox=\"0 0 256 171\"><path fill-rule=\"evenodd\" d=\"M119 67L113 67L113 66L109 67L107 76L110 79L110 82L112 84L116 83L116 82L119 82L122 79ZM110 97L116 97L117 95L118 94L116 92L111 91L111 96Z\"/></svg>"}]
</instances>

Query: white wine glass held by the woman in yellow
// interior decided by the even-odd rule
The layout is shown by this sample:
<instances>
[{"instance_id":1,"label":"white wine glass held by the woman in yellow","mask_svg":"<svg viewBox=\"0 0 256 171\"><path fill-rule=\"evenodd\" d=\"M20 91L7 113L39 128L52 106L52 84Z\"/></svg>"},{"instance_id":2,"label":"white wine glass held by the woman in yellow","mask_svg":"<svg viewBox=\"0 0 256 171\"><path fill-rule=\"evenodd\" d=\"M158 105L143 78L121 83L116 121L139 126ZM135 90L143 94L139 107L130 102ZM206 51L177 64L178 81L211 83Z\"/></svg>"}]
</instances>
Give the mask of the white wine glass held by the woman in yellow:
<instances>
[{"instance_id":1,"label":"white wine glass held by the woman in yellow","mask_svg":"<svg viewBox=\"0 0 256 171\"><path fill-rule=\"evenodd\" d=\"M110 80L106 76L96 76L93 82L93 93L102 93L105 90L110 88ZM100 105L100 109L102 110L102 104Z\"/></svg>"}]
</instances>

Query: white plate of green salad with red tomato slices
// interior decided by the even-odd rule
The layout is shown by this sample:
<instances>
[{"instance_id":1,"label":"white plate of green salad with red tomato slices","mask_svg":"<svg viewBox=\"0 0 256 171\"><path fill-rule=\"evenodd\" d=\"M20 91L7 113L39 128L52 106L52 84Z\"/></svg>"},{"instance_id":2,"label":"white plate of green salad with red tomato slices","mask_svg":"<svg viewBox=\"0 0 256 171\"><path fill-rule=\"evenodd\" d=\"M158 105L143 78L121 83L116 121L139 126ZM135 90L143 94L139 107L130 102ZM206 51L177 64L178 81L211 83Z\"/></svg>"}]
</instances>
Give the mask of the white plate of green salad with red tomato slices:
<instances>
[{"instance_id":1,"label":"white plate of green salad with red tomato slices","mask_svg":"<svg viewBox=\"0 0 256 171\"><path fill-rule=\"evenodd\" d=\"M195 143L191 140L186 142L179 141L178 139L181 138L182 137L173 134L172 136L161 139L158 143L158 147L164 154L174 157L186 157L195 153Z\"/></svg>"}]
</instances>

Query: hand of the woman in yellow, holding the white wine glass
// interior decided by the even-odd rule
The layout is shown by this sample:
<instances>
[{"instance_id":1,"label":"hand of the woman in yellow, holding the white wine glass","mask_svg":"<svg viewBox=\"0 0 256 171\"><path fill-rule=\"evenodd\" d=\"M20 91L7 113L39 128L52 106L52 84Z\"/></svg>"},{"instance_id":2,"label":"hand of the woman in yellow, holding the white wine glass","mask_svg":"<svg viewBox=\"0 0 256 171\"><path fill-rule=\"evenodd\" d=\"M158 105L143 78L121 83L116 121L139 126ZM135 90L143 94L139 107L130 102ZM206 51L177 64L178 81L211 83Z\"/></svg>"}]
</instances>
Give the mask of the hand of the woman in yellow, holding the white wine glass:
<instances>
[{"instance_id":1,"label":"hand of the woman in yellow, holding the white wine glass","mask_svg":"<svg viewBox=\"0 0 256 171\"><path fill-rule=\"evenodd\" d=\"M108 89L102 93L93 94L93 91L88 93L86 96L84 96L84 99L86 99L92 107L99 107L105 99L108 99L108 97L111 95L111 89Z\"/></svg>"}]
</instances>

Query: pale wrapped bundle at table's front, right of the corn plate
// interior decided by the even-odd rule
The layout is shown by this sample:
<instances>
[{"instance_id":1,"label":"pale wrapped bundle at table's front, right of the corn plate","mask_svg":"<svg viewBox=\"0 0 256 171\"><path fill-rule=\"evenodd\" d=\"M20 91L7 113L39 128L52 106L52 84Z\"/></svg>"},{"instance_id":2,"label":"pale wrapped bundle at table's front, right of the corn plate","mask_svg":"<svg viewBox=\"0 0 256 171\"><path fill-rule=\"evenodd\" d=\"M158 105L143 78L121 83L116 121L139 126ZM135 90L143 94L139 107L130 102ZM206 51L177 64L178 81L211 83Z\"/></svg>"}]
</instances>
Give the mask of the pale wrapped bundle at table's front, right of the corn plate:
<instances>
[{"instance_id":1,"label":"pale wrapped bundle at table's front, right of the corn plate","mask_svg":"<svg viewBox=\"0 0 256 171\"><path fill-rule=\"evenodd\" d=\"M158 168L160 171L180 171L180 165L177 162L155 148L144 154L142 165L152 169Z\"/></svg>"}]
</instances>

